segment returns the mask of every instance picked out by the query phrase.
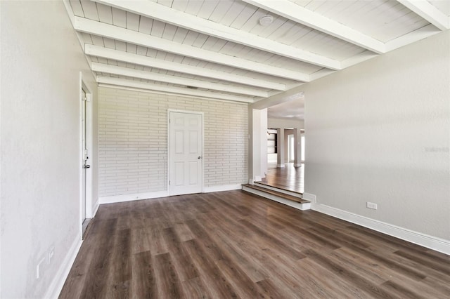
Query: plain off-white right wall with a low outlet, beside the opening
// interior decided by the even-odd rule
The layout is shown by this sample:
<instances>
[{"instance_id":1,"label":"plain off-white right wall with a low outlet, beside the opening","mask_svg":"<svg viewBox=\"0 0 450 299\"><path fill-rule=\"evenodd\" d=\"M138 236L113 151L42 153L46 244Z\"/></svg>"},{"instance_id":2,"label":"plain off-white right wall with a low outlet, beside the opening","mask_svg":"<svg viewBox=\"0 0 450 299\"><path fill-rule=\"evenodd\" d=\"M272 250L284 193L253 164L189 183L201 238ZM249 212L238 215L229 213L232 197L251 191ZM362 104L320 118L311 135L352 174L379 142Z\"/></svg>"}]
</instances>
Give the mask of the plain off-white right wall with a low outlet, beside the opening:
<instances>
[{"instance_id":1,"label":"plain off-white right wall with a low outlet, beside the opening","mask_svg":"<svg viewBox=\"0 0 450 299\"><path fill-rule=\"evenodd\" d=\"M302 87L305 192L450 240L450 32Z\"/></svg>"}]
</instances>

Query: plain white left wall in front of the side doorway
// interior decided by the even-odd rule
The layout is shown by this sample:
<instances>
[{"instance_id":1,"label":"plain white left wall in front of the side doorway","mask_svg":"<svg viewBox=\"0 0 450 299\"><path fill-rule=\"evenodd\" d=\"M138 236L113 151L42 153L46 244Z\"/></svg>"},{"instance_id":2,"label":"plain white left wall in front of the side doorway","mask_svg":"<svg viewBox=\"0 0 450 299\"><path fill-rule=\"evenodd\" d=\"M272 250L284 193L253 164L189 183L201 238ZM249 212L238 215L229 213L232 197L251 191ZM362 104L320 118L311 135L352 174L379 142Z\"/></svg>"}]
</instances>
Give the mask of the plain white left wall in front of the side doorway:
<instances>
[{"instance_id":1,"label":"plain white left wall in front of the side doorway","mask_svg":"<svg viewBox=\"0 0 450 299\"><path fill-rule=\"evenodd\" d=\"M79 72L96 87L62 1L0 7L0 297L43 298L81 240Z\"/></svg>"}]
</instances>

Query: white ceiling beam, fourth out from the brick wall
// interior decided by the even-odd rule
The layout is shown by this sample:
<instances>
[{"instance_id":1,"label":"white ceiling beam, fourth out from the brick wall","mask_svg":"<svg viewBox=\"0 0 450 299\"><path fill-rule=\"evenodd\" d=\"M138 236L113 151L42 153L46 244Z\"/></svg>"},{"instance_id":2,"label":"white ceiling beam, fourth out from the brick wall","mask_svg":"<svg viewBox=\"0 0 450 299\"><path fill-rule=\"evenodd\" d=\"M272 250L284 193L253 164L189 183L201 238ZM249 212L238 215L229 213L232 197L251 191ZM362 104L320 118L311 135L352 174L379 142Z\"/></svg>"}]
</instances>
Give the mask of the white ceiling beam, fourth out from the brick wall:
<instances>
[{"instance_id":1,"label":"white ceiling beam, fourth out from the brick wall","mask_svg":"<svg viewBox=\"0 0 450 299\"><path fill-rule=\"evenodd\" d=\"M136 44L148 48L155 48L161 51L174 53L177 55L184 55L199 60L206 60L221 65L247 69L252 72L269 74L271 76L291 79L295 81L309 81L309 75L302 72L284 69L283 67L264 65L264 63L260 62L254 62L243 58L233 57L231 55L224 55L213 51L207 51L201 48L195 48L193 46L175 43L174 41L168 41L167 39L161 39L130 29L124 29L122 27L108 25L94 20L88 20L86 18L75 17L74 28L75 30L80 32L108 37L109 39L124 41L130 44Z\"/></svg>"}]
</instances>

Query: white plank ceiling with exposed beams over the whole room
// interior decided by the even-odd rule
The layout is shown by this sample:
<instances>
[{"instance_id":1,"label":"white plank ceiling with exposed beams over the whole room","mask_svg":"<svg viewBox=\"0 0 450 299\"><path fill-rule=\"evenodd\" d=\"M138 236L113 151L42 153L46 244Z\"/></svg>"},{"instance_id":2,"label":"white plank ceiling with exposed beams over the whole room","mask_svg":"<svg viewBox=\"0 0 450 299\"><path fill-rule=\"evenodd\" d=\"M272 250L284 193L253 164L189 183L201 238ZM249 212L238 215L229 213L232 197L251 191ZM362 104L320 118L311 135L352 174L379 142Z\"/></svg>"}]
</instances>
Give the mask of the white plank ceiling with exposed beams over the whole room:
<instances>
[{"instance_id":1,"label":"white plank ceiling with exposed beams over the whole room","mask_svg":"<svg viewBox=\"0 0 450 299\"><path fill-rule=\"evenodd\" d=\"M447 30L449 3L65 0L99 86L249 103Z\"/></svg>"}]
</instances>

